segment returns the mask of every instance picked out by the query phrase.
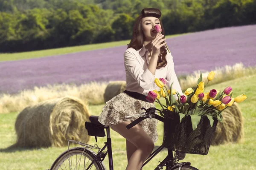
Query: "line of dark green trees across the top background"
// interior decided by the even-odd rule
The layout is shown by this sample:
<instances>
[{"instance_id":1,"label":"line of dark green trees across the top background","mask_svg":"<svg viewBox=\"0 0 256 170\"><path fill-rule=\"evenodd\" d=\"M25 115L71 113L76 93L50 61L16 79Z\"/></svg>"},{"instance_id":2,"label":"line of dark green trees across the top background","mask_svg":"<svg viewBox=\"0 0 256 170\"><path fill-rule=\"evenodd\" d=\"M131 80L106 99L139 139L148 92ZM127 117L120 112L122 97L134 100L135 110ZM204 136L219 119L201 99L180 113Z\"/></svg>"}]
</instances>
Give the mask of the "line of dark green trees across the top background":
<instances>
[{"instance_id":1,"label":"line of dark green trees across the top background","mask_svg":"<svg viewBox=\"0 0 256 170\"><path fill-rule=\"evenodd\" d=\"M0 52L128 40L146 7L166 34L256 23L256 0L0 0Z\"/></svg>"}]
</instances>

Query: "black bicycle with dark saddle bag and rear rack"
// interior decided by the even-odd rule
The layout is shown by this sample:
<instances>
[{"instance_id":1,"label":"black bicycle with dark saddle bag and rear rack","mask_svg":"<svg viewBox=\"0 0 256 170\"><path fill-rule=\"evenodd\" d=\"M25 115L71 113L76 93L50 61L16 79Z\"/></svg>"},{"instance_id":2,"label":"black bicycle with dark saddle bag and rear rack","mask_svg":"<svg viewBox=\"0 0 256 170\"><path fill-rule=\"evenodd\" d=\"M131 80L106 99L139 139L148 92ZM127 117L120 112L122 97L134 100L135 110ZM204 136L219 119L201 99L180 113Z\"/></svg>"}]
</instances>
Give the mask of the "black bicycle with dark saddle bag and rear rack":
<instances>
[{"instance_id":1,"label":"black bicycle with dark saddle bag and rear rack","mask_svg":"<svg viewBox=\"0 0 256 170\"><path fill-rule=\"evenodd\" d=\"M157 111L159 111L160 113L161 112L160 110L156 108L149 108L149 109L141 108L141 109L144 109L145 112L137 115L133 115L133 116L140 116L140 117L134 120L133 122L131 122L129 125L127 125L126 126L127 129L130 129L131 127L137 125L139 122L147 118L150 118L150 119L154 118L161 122L164 122L164 117L159 116L158 114L155 114L157 113ZM129 119L133 116L126 116L126 118ZM88 135L95 136L96 142L97 142L97 137L105 137L105 129L106 129L107 142L104 142L105 146L102 148L99 148L97 144L94 144L92 146L79 141L68 140L68 150L61 153L61 155L58 156L58 158L53 162L51 168L48 170L64 170L64 168L65 170L67 170L67 167L70 170L75 170L75 169L80 170L80 166L82 170L91 170L91 169L106 170L106 167L103 164L103 160L105 159L107 154L108 154L109 169L113 170L110 128L102 125L98 121L98 116L90 116L89 120L90 122L85 122L85 127L88 131ZM69 148L70 142L75 144L80 144L81 147ZM156 150L154 150L154 152L152 152L151 155L148 156L148 159L145 161L142 167L144 167L145 164L147 164L151 159L154 158L154 156L156 156L161 150L163 150L163 148L164 148L163 145L161 145ZM98 150L97 153L95 153L92 149ZM104 152L105 149L106 151ZM208 150L207 150L207 153L208 153ZM186 156L186 153L183 153L180 151L175 152L167 148L166 158L163 159L162 161L158 161L160 162L160 164L158 164L154 170L162 170L163 167L166 167L166 170L198 170L197 168L192 167L190 162L179 163L179 161L183 160L185 156Z\"/></svg>"}]
</instances>

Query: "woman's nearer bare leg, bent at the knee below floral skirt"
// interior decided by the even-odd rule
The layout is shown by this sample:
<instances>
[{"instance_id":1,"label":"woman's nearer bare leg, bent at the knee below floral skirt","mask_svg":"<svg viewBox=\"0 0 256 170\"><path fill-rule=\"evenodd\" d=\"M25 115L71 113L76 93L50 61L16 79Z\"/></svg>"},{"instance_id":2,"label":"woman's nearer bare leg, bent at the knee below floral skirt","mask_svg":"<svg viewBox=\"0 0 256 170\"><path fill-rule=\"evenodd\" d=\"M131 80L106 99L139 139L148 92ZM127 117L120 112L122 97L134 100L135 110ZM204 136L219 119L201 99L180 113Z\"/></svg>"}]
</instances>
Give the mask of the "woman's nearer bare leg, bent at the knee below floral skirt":
<instances>
[{"instance_id":1,"label":"woman's nearer bare leg, bent at the knee below floral skirt","mask_svg":"<svg viewBox=\"0 0 256 170\"><path fill-rule=\"evenodd\" d=\"M135 125L129 130L126 129L126 125L129 123L131 121L122 122L111 126L111 128L137 147L137 150L130 156L126 170L140 170L142 164L154 149L154 142L140 125Z\"/></svg>"}]
</instances>

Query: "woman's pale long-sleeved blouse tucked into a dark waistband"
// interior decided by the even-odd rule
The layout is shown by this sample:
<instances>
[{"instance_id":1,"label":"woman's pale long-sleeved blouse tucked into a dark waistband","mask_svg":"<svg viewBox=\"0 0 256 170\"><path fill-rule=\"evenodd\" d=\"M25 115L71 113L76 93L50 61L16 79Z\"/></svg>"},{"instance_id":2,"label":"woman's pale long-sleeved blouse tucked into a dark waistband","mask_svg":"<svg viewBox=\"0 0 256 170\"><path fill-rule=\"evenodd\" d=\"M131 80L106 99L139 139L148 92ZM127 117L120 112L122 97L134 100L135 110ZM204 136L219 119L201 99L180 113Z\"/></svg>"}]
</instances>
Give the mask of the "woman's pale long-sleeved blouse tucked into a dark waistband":
<instances>
[{"instance_id":1,"label":"woman's pale long-sleeved blouse tucked into a dark waistband","mask_svg":"<svg viewBox=\"0 0 256 170\"><path fill-rule=\"evenodd\" d=\"M126 74L126 90L134 91L140 94L148 95L149 91L160 88L155 84L155 78L164 78L170 88L172 82L172 89L183 95L180 84L174 70L174 62L172 54L167 51L166 60L167 65L163 68L156 69L155 75L148 70L149 58L148 50L143 45L140 50L128 48L124 54L125 74ZM175 95L177 99L177 95Z\"/></svg>"}]
</instances>

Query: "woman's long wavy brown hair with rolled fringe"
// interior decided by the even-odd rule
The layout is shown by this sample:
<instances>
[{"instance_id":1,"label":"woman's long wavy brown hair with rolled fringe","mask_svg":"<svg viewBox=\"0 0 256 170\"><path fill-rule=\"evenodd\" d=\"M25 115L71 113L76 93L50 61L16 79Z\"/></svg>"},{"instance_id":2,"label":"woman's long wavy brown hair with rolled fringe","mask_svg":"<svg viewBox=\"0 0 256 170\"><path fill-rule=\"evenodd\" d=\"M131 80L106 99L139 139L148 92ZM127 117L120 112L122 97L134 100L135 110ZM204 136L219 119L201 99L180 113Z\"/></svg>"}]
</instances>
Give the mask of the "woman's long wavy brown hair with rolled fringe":
<instances>
[{"instance_id":1,"label":"woman's long wavy brown hair with rolled fringe","mask_svg":"<svg viewBox=\"0 0 256 170\"><path fill-rule=\"evenodd\" d=\"M135 20L131 42L128 44L127 48L132 47L135 50L139 50L140 48L143 47L144 34L143 34L143 31L142 31L142 24L141 24L142 18L144 18L144 17L156 17L156 18L159 19L161 17L161 15L162 15L161 11L157 8L144 8L141 11L139 17L137 17L137 19ZM162 28L161 33L164 35L164 29L163 29L163 24L162 24L161 20L160 20L160 25L161 25L161 28ZM163 38L165 38L165 36ZM164 43L164 41L162 43ZM166 47L162 46L160 48L160 54L159 54L159 57L158 57L158 60L157 60L157 69L160 69L160 68L166 66L166 64L167 64L166 54L167 54Z\"/></svg>"}]
</instances>

